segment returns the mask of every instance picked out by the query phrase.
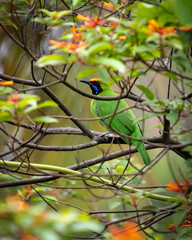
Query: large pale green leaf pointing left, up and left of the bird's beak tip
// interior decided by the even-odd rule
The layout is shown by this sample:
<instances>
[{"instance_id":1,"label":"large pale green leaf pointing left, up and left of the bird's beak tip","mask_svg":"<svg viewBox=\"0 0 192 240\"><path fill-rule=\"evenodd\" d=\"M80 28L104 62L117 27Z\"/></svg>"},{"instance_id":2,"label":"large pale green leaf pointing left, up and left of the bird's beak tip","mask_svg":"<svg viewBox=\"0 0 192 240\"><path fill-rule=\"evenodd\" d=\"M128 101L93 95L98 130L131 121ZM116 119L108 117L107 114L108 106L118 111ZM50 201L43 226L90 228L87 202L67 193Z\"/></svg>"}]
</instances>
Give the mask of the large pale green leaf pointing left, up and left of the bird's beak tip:
<instances>
[{"instance_id":1,"label":"large pale green leaf pointing left, up and left of the bird's beak tip","mask_svg":"<svg viewBox=\"0 0 192 240\"><path fill-rule=\"evenodd\" d=\"M60 56L60 55L48 55L43 56L37 61L38 67L45 67L48 65L58 65L63 64L67 61L66 56Z\"/></svg>"}]
</instances>

